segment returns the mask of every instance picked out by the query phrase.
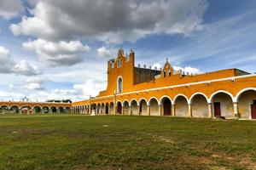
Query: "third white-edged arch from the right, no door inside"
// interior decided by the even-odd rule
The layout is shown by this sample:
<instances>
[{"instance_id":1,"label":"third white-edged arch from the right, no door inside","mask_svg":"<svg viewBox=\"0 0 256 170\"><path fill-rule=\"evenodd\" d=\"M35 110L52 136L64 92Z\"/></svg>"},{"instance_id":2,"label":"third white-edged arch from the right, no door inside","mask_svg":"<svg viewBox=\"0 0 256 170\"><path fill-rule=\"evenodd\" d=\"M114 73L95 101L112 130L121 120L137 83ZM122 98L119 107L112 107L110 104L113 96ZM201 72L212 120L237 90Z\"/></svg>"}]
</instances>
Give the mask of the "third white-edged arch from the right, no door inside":
<instances>
[{"instance_id":1,"label":"third white-edged arch from the right, no door inside","mask_svg":"<svg viewBox=\"0 0 256 170\"><path fill-rule=\"evenodd\" d=\"M208 117L208 103L207 95L202 93L193 94L190 98L192 116Z\"/></svg>"}]
</instances>

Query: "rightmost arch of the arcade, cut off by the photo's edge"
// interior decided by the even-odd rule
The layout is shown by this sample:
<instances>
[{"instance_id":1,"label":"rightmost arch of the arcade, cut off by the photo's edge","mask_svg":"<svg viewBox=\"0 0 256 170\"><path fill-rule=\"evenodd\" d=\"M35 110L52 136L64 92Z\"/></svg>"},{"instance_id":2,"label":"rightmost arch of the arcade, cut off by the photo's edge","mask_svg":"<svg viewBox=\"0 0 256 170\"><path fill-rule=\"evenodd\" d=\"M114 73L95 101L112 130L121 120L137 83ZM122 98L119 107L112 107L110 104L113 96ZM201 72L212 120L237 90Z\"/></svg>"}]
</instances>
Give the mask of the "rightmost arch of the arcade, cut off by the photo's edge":
<instances>
[{"instance_id":1,"label":"rightmost arch of the arcade, cut off by the photo's edge","mask_svg":"<svg viewBox=\"0 0 256 170\"><path fill-rule=\"evenodd\" d=\"M244 88L236 94L238 116L256 119L256 88Z\"/></svg>"}]
</instances>

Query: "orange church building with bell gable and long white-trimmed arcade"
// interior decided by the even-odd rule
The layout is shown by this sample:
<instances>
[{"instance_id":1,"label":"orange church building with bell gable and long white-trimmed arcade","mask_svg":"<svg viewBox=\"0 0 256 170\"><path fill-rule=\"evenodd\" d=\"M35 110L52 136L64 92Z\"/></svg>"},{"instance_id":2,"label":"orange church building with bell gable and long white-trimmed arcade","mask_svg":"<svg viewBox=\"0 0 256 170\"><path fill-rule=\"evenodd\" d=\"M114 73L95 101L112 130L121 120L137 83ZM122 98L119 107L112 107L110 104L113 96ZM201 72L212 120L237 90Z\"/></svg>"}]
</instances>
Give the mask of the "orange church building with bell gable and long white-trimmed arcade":
<instances>
[{"instance_id":1,"label":"orange church building with bell gable and long white-trimmed arcade","mask_svg":"<svg viewBox=\"0 0 256 170\"><path fill-rule=\"evenodd\" d=\"M256 75L238 69L189 75L135 66L135 53L108 61L108 86L73 102L72 111L96 115L187 116L256 119Z\"/></svg>"}]
</instances>

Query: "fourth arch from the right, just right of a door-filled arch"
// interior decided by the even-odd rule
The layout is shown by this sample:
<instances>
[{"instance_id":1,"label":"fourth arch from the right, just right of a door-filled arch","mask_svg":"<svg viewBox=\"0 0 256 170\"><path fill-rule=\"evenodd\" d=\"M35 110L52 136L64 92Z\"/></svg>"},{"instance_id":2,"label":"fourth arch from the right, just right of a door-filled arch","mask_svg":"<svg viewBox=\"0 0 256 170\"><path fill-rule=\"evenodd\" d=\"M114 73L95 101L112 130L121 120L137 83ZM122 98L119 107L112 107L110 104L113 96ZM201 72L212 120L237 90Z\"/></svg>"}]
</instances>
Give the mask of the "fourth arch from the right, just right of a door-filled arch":
<instances>
[{"instance_id":1,"label":"fourth arch from the right, just right of a door-filled arch","mask_svg":"<svg viewBox=\"0 0 256 170\"><path fill-rule=\"evenodd\" d=\"M188 116L189 99L183 94L177 94L173 99L175 107L175 116Z\"/></svg>"}]
</instances>

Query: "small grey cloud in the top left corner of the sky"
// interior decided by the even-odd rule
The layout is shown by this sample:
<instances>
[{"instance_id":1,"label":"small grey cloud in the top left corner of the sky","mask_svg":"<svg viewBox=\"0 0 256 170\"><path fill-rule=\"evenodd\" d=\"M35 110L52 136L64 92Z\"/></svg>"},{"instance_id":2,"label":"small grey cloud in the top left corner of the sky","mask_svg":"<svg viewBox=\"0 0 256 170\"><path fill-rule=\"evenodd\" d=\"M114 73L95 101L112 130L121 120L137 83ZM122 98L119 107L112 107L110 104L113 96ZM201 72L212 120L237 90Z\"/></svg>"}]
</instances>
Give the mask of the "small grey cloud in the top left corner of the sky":
<instances>
[{"instance_id":1,"label":"small grey cloud in the top left corner of the sky","mask_svg":"<svg viewBox=\"0 0 256 170\"><path fill-rule=\"evenodd\" d=\"M0 0L0 16L11 19L23 11L20 0Z\"/></svg>"}]
</instances>

